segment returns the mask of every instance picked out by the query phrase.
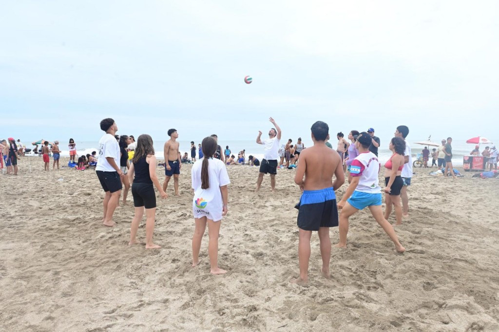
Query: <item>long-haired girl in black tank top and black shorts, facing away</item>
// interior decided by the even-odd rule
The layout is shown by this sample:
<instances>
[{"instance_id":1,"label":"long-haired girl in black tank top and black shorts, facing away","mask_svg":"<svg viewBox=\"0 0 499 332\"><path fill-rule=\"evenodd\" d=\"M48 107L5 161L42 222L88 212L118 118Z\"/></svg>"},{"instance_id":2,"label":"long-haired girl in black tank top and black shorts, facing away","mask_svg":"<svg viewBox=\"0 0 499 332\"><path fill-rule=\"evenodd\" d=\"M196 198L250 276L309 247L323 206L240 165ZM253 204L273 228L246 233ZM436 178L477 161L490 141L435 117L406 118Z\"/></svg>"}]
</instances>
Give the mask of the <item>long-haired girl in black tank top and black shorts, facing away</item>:
<instances>
[{"instance_id":1,"label":"long-haired girl in black tank top and black shorts, facing away","mask_svg":"<svg viewBox=\"0 0 499 332\"><path fill-rule=\"evenodd\" d=\"M134 178L135 175L135 178ZM151 136L142 134L137 139L135 154L128 171L128 182L132 184L133 205L135 206L135 216L130 226L130 242L128 245L138 244L137 229L140 220L146 211L146 249L159 249L161 246L154 244L153 232L156 219L156 194L153 184L158 189L161 198L168 197L159 183L156 175L156 156Z\"/></svg>"}]
</instances>

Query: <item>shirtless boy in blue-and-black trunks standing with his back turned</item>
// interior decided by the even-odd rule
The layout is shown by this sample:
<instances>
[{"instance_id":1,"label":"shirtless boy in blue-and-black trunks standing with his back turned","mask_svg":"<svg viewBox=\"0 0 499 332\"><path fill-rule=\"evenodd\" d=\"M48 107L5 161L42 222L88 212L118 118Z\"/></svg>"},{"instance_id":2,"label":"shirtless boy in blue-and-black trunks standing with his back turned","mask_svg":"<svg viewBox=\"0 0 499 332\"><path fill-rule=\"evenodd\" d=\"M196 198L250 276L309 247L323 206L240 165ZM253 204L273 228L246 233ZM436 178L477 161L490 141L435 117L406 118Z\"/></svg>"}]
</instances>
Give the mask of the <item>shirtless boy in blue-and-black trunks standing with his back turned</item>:
<instances>
[{"instance_id":1,"label":"shirtless boy in blue-and-black trunks standing with his back turned","mask_svg":"<svg viewBox=\"0 0 499 332\"><path fill-rule=\"evenodd\" d=\"M294 176L294 182L303 191L300 202L297 204L300 276L291 281L299 285L308 282L312 231L317 231L319 235L322 276L329 279L331 257L329 228L338 226L338 209L334 191L345 182L340 156L325 145L329 126L325 122L317 121L310 130L313 146L301 152L300 162ZM334 182L332 181L333 174L335 175Z\"/></svg>"}]
</instances>

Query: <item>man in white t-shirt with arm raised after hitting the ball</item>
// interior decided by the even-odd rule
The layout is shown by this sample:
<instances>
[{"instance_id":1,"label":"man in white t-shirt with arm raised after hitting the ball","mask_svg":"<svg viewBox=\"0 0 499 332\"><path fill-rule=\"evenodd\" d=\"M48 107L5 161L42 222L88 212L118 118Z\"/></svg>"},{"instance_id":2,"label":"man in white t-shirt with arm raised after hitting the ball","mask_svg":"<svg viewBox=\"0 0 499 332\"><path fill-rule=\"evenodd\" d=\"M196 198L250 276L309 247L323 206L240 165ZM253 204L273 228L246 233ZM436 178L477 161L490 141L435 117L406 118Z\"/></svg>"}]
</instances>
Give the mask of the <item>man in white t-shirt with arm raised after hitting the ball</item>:
<instances>
[{"instance_id":1,"label":"man in white t-shirt with arm raised after hitting the ball","mask_svg":"<svg viewBox=\"0 0 499 332\"><path fill-rule=\"evenodd\" d=\"M258 131L258 136L256 137L256 143L264 145L263 148L263 159L260 163L260 171L258 173L258 180L256 181L256 190L260 189L261 182L263 181L263 174L270 174L270 187L272 192L275 191L275 174L277 174L277 151L279 150L279 142L281 138L281 130L279 126L275 123L275 120L269 118L268 121L274 125L275 128L271 128L268 131L268 139L261 141L261 131Z\"/></svg>"}]
</instances>

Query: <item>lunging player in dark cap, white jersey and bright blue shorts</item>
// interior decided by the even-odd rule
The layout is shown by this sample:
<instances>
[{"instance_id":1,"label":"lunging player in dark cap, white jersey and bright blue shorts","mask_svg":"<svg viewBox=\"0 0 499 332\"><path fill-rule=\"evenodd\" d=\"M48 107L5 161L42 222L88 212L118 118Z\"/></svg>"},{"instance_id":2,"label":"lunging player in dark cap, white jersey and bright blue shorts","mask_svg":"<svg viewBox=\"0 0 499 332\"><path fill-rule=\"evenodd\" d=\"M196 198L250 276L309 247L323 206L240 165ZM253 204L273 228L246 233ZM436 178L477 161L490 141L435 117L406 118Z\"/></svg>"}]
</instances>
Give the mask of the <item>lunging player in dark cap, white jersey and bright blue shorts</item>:
<instances>
[{"instance_id":1,"label":"lunging player in dark cap, white jersey and bright blue shorts","mask_svg":"<svg viewBox=\"0 0 499 332\"><path fill-rule=\"evenodd\" d=\"M393 226L383 216L381 187L378 178L380 164L378 157L369 151L370 145L371 136L368 133L362 132L357 136L355 146L359 150L359 155L350 166L352 182L346 189L343 198L338 202L338 209L342 210L339 216L340 241L336 247L346 248L348 218L358 210L369 207L374 219L395 244L397 252L404 252L405 248L400 244Z\"/></svg>"}]
</instances>

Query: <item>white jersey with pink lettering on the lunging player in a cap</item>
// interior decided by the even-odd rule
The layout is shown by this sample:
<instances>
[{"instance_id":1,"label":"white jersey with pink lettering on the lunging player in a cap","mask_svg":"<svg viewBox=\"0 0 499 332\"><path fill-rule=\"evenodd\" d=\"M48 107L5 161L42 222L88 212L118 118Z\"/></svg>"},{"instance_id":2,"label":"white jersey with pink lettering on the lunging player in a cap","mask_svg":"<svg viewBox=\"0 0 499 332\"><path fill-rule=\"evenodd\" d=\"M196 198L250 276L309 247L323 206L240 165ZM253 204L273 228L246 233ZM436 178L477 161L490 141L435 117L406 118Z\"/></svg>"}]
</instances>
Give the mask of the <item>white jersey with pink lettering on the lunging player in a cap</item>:
<instances>
[{"instance_id":1,"label":"white jersey with pink lettering on the lunging player in a cap","mask_svg":"<svg viewBox=\"0 0 499 332\"><path fill-rule=\"evenodd\" d=\"M380 167L378 157L372 152L368 151L359 154L350 166L350 175L360 177L355 190L367 193L381 193L378 178Z\"/></svg>"}]
</instances>

